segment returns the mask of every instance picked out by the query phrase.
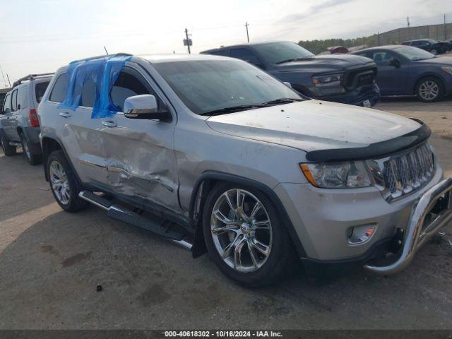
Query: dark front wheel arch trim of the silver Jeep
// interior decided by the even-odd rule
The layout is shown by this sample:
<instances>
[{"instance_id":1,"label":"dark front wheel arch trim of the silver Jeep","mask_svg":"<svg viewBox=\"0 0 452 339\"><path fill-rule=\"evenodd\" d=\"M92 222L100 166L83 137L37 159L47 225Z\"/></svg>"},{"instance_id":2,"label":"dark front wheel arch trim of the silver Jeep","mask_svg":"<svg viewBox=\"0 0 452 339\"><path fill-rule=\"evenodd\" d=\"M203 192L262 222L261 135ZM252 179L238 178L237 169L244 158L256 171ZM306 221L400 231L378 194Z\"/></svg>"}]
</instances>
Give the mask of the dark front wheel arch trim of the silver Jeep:
<instances>
[{"instance_id":1,"label":"dark front wheel arch trim of the silver Jeep","mask_svg":"<svg viewBox=\"0 0 452 339\"><path fill-rule=\"evenodd\" d=\"M256 182L256 180L246 177L240 177L235 174L228 174L224 172L207 171L203 172L203 174L201 174L201 177L196 180L190 198L189 218L194 229L194 245L191 251L194 258L201 256L207 251L205 239L203 236L203 207L205 205L206 197L208 196L209 192L216 184L220 182L242 184L244 186L257 189L258 191L261 191L263 194L265 194L267 198L269 198L273 203L275 208L280 212L280 218L283 221L285 229L289 233L290 239L292 239L292 244L295 246L297 254L300 258L306 257L306 251L304 251L304 247L297 235L297 232L295 231L295 227L292 224L292 221L290 220L289 215L287 214L287 211L283 206L283 203L280 201L280 198L278 198L273 189L270 189L270 187L268 187L266 184Z\"/></svg>"}]
</instances>

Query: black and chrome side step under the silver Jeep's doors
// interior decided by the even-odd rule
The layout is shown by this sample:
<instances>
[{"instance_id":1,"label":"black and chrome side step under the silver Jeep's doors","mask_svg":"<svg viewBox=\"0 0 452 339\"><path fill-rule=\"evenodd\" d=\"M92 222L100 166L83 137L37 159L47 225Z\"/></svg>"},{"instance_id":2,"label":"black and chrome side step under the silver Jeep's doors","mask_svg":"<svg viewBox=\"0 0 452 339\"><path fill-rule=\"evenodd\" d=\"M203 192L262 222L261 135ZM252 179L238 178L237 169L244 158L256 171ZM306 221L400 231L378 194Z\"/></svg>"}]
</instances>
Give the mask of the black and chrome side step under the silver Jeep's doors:
<instances>
[{"instance_id":1,"label":"black and chrome side step under the silver Jeep's doors","mask_svg":"<svg viewBox=\"0 0 452 339\"><path fill-rule=\"evenodd\" d=\"M191 244L184 240L184 234L169 230L167 227L162 226L157 220L144 218L141 215L133 213L131 210L122 206L115 205L111 201L102 198L102 196L97 196L97 194L90 191L81 191L78 196L103 210L107 210L107 215L112 219L126 222L129 225L138 226L143 228L143 230L159 234L161 237L165 237L166 239L179 244L179 246L191 249Z\"/></svg>"}]
</instances>

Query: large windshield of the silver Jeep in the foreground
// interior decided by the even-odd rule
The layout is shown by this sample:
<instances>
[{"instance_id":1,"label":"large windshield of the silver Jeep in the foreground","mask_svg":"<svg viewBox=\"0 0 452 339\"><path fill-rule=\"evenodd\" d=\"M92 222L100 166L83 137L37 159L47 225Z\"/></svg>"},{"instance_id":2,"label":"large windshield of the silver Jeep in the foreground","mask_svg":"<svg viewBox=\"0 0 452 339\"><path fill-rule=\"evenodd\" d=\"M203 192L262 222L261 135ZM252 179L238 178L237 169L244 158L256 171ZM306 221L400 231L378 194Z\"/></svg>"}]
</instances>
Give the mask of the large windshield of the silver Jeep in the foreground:
<instances>
[{"instance_id":1,"label":"large windshield of the silver Jeep in the foreground","mask_svg":"<svg viewBox=\"0 0 452 339\"><path fill-rule=\"evenodd\" d=\"M196 114L282 98L302 100L294 90L244 61L172 61L153 66Z\"/></svg>"}]
</instances>

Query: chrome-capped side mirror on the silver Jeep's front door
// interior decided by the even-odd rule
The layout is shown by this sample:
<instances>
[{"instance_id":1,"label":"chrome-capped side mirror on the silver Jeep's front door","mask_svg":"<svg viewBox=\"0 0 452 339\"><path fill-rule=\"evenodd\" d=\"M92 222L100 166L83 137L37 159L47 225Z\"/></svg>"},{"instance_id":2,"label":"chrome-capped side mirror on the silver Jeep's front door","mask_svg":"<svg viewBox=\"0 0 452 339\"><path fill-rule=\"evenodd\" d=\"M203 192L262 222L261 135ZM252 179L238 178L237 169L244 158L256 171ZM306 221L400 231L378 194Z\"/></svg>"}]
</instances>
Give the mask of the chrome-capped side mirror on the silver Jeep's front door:
<instances>
[{"instance_id":1,"label":"chrome-capped side mirror on the silver Jeep's front door","mask_svg":"<svg viewBox=\"0 0 452 339\"><path fill-rule=\"evenodd\" d=\"M124 101L124 117L162 121L170 121L172 118L168 109L158 109L155 96L150 94L128 97Z\"/></svg>"}]
</instances>

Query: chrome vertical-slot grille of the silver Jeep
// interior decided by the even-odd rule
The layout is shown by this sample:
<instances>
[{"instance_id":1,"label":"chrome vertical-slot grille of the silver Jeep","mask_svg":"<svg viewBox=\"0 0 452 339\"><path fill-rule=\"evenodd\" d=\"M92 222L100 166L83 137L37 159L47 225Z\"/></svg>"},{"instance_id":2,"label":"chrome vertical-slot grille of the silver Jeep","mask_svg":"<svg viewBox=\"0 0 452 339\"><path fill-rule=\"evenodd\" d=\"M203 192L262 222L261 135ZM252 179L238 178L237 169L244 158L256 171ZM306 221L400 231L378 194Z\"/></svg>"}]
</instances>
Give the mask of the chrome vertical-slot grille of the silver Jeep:
<instances>
[{"instance_id":1,"label":"chrome vertical-slot grille of the silver Jeep","mask_svg":"<svg viewBox=\"0 0 452 339\"><path fill-rule=\"evenodd\" d=\"M384 162L383 177L392 198L419 189L433 176L433 154L427 143Z\"/></svg>"}]
</instances>

